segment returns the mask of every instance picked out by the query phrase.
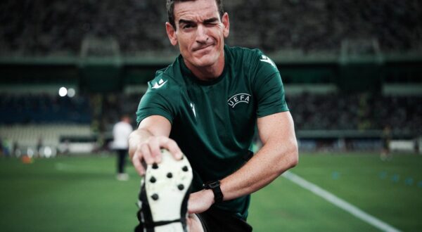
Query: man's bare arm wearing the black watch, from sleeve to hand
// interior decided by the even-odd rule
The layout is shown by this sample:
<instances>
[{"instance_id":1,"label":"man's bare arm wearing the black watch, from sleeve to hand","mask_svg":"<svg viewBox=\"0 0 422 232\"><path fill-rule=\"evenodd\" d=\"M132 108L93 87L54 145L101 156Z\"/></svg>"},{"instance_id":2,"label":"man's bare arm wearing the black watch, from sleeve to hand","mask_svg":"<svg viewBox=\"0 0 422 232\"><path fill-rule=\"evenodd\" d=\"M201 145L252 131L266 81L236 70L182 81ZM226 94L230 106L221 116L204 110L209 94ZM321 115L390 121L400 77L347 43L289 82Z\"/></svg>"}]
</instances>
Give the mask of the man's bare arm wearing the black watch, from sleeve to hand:
<instances>
[{"instance_id":1,"label":"man's bare arm wearing the black watch, from sleeve to hand","mask_svg":"<svg viewBox=\"0 0 422 232\"><path fill-rule=\"evenodd\" d=\"M290 112L260 117L257 125L263 146L241 169L221 180L224 200L258 191L298 164L298 143ZM214 202L213 198L211 190L192 193L188 211L207 210Z\"/></svg>"}]
</instances>

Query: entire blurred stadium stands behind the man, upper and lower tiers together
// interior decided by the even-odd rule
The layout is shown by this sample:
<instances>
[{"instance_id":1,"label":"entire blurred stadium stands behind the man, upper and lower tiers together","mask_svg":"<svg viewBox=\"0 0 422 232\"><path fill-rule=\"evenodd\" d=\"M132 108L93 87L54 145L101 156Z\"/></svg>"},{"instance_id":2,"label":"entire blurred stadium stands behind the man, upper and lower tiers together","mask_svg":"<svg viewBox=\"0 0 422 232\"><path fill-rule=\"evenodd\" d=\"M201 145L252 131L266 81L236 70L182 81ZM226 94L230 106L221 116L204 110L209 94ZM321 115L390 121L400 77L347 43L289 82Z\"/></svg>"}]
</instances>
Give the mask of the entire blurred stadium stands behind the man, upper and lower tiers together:
<instances>
[{"instance_id":1,"label":"entire blurred stadium stands behind the man, upper and lower tiers together","mask_svg":"<svg viewBox=\"0 0 422 232\"><path fill-rule=\"evenodd\" d=\"M379 141L386 125L397 138L421 136L421 1L224 4L229 45L276 55L299 138L335 131L335 139L363 133ZM135 119L146 82L174 58L164 9L164 0L1 1L0 138L35 146L41 131L56 130L45 143L72 136L106 143L120 115ZM91 59L101 56L108 59ZM77 95L56 96L62 83Z\"/></svg>"}]
</instances>

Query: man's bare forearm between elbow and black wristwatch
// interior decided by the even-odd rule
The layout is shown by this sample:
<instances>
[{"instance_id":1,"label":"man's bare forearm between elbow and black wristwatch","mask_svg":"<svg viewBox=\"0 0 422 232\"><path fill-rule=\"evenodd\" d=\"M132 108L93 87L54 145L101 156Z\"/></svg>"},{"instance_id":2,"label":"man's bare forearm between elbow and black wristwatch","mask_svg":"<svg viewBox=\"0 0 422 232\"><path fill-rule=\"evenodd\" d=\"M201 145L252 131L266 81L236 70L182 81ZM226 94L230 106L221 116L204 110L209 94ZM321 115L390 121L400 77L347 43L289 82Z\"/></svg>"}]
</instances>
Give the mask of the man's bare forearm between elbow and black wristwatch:
<instances>
[{"instance_id":1,"label":"man's bare forearm between elbow and black wristwatch","mask_svg":"<svg viewBox=\"0 0 422 232\"><path fill-rule=\"evenodd\" d=\"M265 144L241 169L221 181L224 200L231 200L260 190L298 163L298 146L294 139Z\"/></svg>"}]
</instances>

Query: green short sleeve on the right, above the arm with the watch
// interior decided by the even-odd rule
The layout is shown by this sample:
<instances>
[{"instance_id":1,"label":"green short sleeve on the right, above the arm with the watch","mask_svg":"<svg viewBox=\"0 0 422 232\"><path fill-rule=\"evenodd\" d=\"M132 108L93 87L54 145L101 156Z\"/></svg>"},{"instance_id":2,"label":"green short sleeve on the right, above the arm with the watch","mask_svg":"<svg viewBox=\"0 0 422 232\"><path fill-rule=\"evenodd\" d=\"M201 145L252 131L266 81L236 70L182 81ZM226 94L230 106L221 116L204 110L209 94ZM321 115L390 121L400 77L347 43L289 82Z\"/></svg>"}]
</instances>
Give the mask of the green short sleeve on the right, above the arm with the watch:
<instances>
[{"instance_id":1,"label":"green short sleeve on the right, above the arm with the watch","mask_svg":"<svg viewBox=\"0 0 422 232\"><path fill-rule=\"evenodd\" d=\"M257 117L288 111L283 82L275 63L259 53L255 64L254 89L257 99Z\"/></svg>"}]
</instances>

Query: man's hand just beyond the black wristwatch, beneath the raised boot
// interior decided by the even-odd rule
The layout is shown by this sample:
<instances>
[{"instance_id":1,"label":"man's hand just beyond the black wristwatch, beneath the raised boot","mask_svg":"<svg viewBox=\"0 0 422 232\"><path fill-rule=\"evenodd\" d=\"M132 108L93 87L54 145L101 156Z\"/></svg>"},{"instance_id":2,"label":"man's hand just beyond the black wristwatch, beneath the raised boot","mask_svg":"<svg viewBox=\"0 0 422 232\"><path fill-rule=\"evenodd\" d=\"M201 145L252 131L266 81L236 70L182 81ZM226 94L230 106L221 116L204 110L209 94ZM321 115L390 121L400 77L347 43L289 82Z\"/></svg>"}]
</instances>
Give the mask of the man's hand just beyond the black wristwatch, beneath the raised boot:
<instances>
[{"instance_id":1,"label":"man's hand just beyond the black wristwatch, beneath the raised boot","mask_svg":"<svg viewBox=\"0 0 422 232\"><path fill-rule=\"evenodd\" d=\"M200 214L208 210L214 204L214 193L212 190L202 190L196 193L191 193L188 200L188 213Z\"/></svg>"}]
</instances>

